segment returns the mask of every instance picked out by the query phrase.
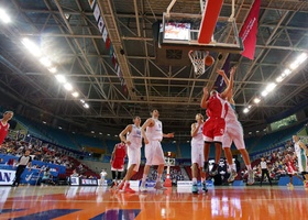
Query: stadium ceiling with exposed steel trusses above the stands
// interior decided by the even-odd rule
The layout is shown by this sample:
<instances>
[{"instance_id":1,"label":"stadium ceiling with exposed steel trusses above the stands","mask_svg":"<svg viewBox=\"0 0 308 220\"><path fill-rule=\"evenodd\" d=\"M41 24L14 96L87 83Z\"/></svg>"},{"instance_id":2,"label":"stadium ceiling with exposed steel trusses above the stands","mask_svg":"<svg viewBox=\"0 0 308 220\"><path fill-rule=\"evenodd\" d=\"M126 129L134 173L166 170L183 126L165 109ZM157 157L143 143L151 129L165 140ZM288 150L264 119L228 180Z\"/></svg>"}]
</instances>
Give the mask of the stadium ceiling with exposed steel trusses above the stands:
<instances>
[{"instance_id":1,"label":"stadium ceiling with exposed steel trusses above the stands","mask_svg":"<svg viewBox=\"0 0 308 220\"><path fill-rule=\"evenodd\" d=\"M228 54L213 53L215 65L196 76L191 65L167 66L156 62L157 42L152 25L162 19L169 0L98 0L102 19L127 87L117 76L110 48L86 0L11 0L1 1L12 22L0 24L0 88L14 100L22 114L35 113L37 120L68 121L85 130L120 131L133 116L148 118L161 112L165 132L185 135L199 107L202 87L212 87ZM235 0L235 21L243 25L253 0ZM179 13L200 13L198 0L178 0L173 9ZM231 0L224 0L222 13L230 14ZM28 37L36 42L52 62L77 88L74 98L63 89L53 74L43 67L21 44ZM244 129L250 129L307 103L307 62L275 88L246 114L243 109L267 82L300 53L308 53L308 2L302 0L262 0L255 58L231 55L238 65L234 99ZM220 59L218 56L220 55ZM89 109L85 109L84 99ZM6 106L6 105L4 105ZM9 106L9 105L8 105ZM54 122L56 125L56 122ZM62 124L65 128L65 125ZM107 131L106 131L107 132Z\"/></svg>"}]
</instances>

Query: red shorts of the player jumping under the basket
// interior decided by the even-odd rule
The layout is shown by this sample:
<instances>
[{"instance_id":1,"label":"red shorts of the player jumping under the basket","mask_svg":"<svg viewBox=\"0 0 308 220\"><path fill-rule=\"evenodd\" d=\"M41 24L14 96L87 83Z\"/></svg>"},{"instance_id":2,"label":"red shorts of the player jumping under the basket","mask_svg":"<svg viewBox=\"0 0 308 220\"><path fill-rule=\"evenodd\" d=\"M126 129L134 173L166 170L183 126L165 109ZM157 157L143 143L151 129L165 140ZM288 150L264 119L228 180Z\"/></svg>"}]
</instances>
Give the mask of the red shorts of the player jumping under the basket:
<instances>
[{"instance_id":1,"label":"red shorts of the player jumping under the basket","mask_svg":"<svg viewBox=\"0 0 308 220\"><path fill-rule=\"evenodd\" d=\"M224 129L224 119L209 118L205 122L202 130L205 142L222 142Z\"/></svg>"}]
</instances>

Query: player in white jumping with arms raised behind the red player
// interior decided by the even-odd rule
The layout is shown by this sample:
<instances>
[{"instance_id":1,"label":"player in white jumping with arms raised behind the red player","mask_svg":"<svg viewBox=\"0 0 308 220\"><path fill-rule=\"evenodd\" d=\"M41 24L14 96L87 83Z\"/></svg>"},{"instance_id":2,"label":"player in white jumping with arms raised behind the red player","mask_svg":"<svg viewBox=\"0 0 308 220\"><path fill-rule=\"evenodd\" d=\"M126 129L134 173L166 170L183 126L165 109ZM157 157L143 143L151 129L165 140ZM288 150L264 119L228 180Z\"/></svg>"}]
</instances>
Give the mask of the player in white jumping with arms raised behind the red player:
<instances>
[{"instance_id":1,"label":"player in white jumping with arms raised behind the red player","mask_svg":"<svg viewBox=\"0 0 308 220\"><path fill-rule=\"evenodd\" d=\"M233 76L235 73L235 67L232 67L230 72L230 79L228 79L227 75L223 70L218 70L218 74L222 76L223 80L226 81L227 86L230 86L233 88ZM224 156L227 158L228 163L228 172L230 173L230 176L228 178L228 182L231 183L234 180L234 178L238 176L238 173L233 168L233 158L231 153L231 145L232 142L234 142L235 147L240 151L240 153L243 156L244 163L246 165L248 172L249 172L249 178L248 178L248 185L254 184L254 173L251 167L251 161L250 155L245 148L244 143L244 134L243 134L243 128L242 124L238 120L238 114L235 112L235 102L233 100L233 94L232 90L230 90L229 94L227 94L227 103L228 103L228 112L226 116L226 132L223 134L222 140L222 147L224 151ZM239 172L239 170L238 170Z\"/></svg>"}]
</instances>

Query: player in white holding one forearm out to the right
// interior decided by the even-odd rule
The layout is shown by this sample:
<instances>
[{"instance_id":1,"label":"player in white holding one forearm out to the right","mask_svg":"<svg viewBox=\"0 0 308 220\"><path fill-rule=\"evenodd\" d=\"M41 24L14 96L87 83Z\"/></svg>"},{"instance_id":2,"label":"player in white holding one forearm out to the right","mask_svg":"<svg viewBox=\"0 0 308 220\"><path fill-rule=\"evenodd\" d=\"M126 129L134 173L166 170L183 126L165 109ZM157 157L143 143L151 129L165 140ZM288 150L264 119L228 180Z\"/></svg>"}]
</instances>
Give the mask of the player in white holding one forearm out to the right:
<instances>
[{"instance_id":1,"label":"player in white holding one forearm out to the right","mask_svg":"<svg viewBox=\"0 0 308 220\"><path fill-rule=\"evenodd\" d=\"M145 158L146 158L146 164L144 167L144 173L142 177L142 183L140 190L141 191L146 191L145 188L145 180L147 177L147 174L150 172L150 167L152 165L158 165L157 168L157 179L156 179L156 185L155 189L166 189L163 187L161 179L162 179L162 174L164 170L165 166L165 157L164 157L164 152L162 148L161 141L163 138L174 138L174 133L168 133L164 134L163 133L163 124L158 120L160 112L158 110L153 110L152 111L152 118L147 119L144 124L141 128L141 133L144 139L145 143ZM145 131L146 129L146 131Z\"/></svg>"}]
</instances>

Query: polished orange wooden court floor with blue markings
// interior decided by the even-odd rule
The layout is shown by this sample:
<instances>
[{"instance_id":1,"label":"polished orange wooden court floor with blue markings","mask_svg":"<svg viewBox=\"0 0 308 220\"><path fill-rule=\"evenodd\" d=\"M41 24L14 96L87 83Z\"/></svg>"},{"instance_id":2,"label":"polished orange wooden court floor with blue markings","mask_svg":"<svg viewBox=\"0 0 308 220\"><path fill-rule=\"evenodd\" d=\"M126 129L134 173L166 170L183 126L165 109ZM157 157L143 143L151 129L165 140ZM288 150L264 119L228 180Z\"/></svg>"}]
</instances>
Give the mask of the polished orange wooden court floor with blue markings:
<instances>
[{"instance_id":1,"label":"polished orange wooden court floor with blue markings","mask_svg":"<svg viewBox=\"0 0 308 220\"><path fill-rule=\"evenodd\" d=\"M308 218L302 187L216 187L191 195L190 188L146 194L112 193L103 187L0 187L0 219L202 220Z\"/></svg>"}]
</instances>

